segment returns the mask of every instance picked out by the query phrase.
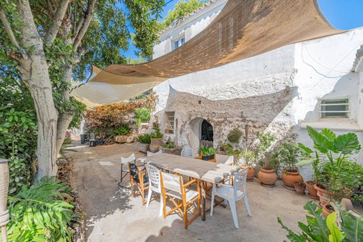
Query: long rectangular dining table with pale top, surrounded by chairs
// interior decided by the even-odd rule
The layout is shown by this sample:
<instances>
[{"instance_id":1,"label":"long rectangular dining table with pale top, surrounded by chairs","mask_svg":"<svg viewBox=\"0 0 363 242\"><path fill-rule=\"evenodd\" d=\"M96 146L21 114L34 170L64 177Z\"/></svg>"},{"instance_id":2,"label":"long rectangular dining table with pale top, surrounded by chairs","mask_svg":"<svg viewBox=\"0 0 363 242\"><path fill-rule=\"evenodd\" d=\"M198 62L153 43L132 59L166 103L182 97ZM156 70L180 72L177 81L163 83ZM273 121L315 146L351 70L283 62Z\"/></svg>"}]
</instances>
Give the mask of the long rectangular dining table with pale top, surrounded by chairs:
<instances>
[{"instance_id":1,"label":"long rectangular dining table with pale top, surrounded by chairs","mask_svg":"<svg viewBox=\"0 0 363 242\"><path fill-rule=\"evenodd\" d=\"M206 181L214 183L215 181L221 181L231 174L235 174L239 171L240 167L232 165L225 165L216 162L209 162L207 160L198 160L195 158L177 156L168 153L161 153L156 156L150 156L142 158L139 161L144 163L151 162L161 169L165 169L169 172L175 172L184 176L189 176L199 181ZM201 187L201 210L202 220L205 221L205 186Z\"/></svg>"}]
</instances>

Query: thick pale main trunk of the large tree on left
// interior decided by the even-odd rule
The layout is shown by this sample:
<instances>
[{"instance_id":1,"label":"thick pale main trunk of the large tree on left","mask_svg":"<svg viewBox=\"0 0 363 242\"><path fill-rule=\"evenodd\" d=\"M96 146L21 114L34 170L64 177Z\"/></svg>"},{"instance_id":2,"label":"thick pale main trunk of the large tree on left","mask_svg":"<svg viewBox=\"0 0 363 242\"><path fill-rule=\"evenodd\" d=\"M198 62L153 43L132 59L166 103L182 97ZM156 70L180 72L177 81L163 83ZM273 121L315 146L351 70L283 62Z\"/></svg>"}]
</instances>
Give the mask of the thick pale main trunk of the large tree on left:
<instances>
[{"instance_id":1,"label":"thick pale main trunk of the large tree on left","mask_svg":"<svg viewBox=\"0 0 363 242\"><path fill-rule=\"evenodd\" d=\"M47 61L43 50L43 41L38 34L34 18L31 13L29 1L22 0L17 3L24 26L20 25L22 46L29 50L27 59L20 61L22 81L27 85L34 100L38 118L38 172L34 179L57 174L56 134L57 134L57 109L54 107L52 97L52 84L48 73Z\"/></svg>"}]
</instances>

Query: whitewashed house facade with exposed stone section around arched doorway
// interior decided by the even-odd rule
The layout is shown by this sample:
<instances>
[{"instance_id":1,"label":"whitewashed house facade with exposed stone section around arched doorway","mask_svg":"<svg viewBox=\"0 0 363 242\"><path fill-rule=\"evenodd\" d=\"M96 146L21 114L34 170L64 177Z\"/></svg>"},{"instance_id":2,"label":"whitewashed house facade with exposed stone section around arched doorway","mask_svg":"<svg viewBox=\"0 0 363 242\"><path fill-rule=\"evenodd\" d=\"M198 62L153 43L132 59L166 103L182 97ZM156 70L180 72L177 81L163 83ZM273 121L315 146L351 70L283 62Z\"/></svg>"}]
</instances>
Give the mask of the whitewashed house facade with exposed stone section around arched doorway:
<instances>
[{"instance_id":1,"label":"whitewashed house facade with exposed stone section around arched doorway","mask_svg":"<svg viewBox=\"0 0 363 242\"><path fill-rule=\"evenodd\" d=\"M161 33L154 58L183 45L214 20L226 0L177 21ZM225 66L169 79L154 87L156 119L165 139L196 152L215 147L232 128L247 145L260 130L312 146L306 126L356 133L363 144L363 28L295 43ZM201 53L202 54L202 53ZM246 146L242 139L240 147ZM363 161L363 151L353 159ZM309 168L302 172L311 179Z\"/></svg>"}]
</instances>

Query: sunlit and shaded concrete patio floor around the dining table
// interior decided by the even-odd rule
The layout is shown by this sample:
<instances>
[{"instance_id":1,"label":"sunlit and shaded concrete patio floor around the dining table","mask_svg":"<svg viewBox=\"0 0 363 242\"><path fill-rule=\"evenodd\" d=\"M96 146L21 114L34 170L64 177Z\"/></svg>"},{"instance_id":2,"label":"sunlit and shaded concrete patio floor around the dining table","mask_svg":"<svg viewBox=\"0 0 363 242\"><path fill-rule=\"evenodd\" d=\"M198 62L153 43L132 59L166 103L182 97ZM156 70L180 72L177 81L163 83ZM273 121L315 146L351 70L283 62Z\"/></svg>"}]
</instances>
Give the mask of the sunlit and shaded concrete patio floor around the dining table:
<instances>
[{"instance_id":1,"label":"sunlit and shaded concrete patio floor around the dining table","mask_svg":"<svg viewBox=\"0 0 363 242\"><path fill-rule=\"evenodd\" d=\"M137 158L145 156L136 146L80 146L74 148L77 152L66 151L73 157L72 183L87 214L87 241L283 241L286 232L276 217L295 230L297 221L306 221L303 206L308 196L283 188L281 181L274 188L265 188L255 179L247 183L252 217L247 215L243 201L237 202L239 229L233 225L229 206L217 206L213 217L207 213L205 222L199 217L184 229L177 214L158 217L158 200L147 208L140 196L132 198L129 190L117 186L119 157L131 153Z\"/></svg>"}]
</instances>

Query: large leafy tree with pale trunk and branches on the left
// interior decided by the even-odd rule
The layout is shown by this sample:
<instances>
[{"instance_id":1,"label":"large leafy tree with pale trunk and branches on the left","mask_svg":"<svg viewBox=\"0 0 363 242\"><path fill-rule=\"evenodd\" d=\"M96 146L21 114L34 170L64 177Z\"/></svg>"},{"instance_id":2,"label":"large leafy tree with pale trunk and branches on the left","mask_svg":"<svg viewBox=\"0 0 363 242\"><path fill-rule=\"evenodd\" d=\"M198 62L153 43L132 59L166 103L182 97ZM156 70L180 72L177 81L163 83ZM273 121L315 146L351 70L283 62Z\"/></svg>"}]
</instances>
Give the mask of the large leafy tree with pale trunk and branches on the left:
<instances>
[{"instance_id":1,"label":"large leafy tree with pale trunk and branches on the left","mask_svg":"<svg viewBox=\"0 0 363 242\"><path fill-rule=\"evenodd\" d=\"M89 63L101 68L126 63L120 54L131 38L126 20L135 30L133 42L140 54L151 57L163 4L159 0L121 4L115 0L0 0L0 76L11 73L6 78L26 86L34 101L36 179L57 173L57 153L79 107L70 98L71 86L90 73Z\"/></svg>"}]
</instances>

